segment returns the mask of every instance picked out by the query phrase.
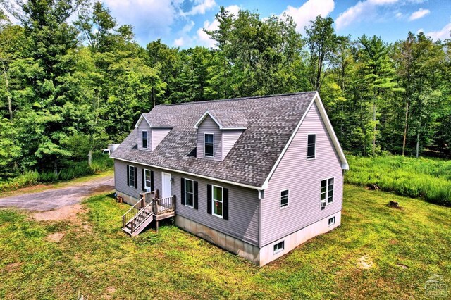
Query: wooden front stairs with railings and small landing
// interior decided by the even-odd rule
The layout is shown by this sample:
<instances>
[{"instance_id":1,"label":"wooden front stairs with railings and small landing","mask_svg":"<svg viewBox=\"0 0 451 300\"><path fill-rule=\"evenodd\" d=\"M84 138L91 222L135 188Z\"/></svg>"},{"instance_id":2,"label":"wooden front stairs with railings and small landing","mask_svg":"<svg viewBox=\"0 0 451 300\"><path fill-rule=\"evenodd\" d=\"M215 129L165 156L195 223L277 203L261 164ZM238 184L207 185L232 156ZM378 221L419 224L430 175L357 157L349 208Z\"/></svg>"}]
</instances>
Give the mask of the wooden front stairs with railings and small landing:
<instances>
[{"instance_id":1,"label":"wooden front stairs with railings and small landing","mask_svg":"<svg viewBox=\"0 0 451 300\"><path fill-rule=\"evenodd\" d=\"M131 237L139 235L153 220L158 231L159 220L175 215L175 196L159 199L158 190L141 195L140 201L122 216L122 230Z\"/></svg>"}]
</instances>

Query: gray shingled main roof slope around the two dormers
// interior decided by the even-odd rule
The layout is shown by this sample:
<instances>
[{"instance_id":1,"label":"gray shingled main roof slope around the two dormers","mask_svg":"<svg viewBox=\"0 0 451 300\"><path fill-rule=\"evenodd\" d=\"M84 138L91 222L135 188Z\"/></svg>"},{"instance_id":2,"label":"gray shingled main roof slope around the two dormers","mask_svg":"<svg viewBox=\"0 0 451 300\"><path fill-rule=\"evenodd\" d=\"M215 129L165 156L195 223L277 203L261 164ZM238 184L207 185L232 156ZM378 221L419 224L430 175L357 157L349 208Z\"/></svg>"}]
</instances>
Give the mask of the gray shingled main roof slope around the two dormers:
<instances>
[{"instance_id":1,"label":"gray shingled main roof slope around the two dormers","mask_svg":"<svg viewBox=\"0 0 451 300\"><path fill-rule=\"evenodd\" d=\"M315 94L302 92L156 106L144 114L149 123L173 126L156 149L138 150L135 129L111 157L261 187ZM196 148L194 124L206 111L239 112L246 121L247 129L223 161L189 155ZM233 114L225 115L228 119Z\"/></svg>"}]
</instances>

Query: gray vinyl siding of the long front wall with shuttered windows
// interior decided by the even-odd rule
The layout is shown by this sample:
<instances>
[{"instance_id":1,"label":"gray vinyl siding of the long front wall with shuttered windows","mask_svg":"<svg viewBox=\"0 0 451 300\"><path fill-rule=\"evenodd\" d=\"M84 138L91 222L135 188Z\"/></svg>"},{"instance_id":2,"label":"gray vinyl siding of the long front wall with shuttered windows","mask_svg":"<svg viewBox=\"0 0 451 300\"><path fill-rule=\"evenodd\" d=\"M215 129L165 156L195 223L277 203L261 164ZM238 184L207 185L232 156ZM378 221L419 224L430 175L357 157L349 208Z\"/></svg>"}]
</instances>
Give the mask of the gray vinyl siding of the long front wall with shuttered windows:
<instances>
[{"instance_id":1,"label":"gray vinyl siding of the long front wall with shuttered windows","mask_svg":"<svg viewBox=\"0 0 451 300\"><path fill-rule=\"evenodd\" d=\"M204 180L203 178L186 176L158 168L132 164L137 166L138 188L127 187L128 163L115 161L116 190L130 196L138 197L142 192L141 170L147 168L154 171L154 189L158 189L161 195L161 172L171 173L173 178L172 194L176 197L175 213L185 218L201 223L226 235L230 235L242 241L258 246L259 244L259 199L257 190L225 185L222 182ZM198 209L181 204L180 179L187 178L198 182ZM218 185L229 190L228 192L228 220L223 220L206 212L206 185Z\"/></svg>"}]
</instances>

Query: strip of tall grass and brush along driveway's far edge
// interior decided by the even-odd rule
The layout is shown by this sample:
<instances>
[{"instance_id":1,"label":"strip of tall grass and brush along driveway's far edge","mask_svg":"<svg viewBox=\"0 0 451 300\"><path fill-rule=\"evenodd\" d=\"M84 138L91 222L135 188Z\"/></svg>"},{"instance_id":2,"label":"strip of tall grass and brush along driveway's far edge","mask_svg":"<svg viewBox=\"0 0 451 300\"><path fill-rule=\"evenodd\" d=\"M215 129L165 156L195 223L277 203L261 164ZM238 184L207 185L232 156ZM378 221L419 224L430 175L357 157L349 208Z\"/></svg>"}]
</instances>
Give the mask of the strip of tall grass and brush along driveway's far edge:
<instances>
[{"instance_id":1,"label":"strip of tall grass and brush along driveway's far edge","mask_svg":"<svg viewBox=\"0 0 451 300\"><path fill-rule=\"evenodd\" d=\"M12 191L21 187L29 187L38 183L67 181L77 177L92 175L97 172L110 170L113 168L114 162L109 156L102 154L94 154L91 166L87 161L68 162L58 171L53 170L46 172L38 172L37 170L27 170L24 173L13 177L4 182L0 182L0 192Z\"/></svg>"}]
</instances>

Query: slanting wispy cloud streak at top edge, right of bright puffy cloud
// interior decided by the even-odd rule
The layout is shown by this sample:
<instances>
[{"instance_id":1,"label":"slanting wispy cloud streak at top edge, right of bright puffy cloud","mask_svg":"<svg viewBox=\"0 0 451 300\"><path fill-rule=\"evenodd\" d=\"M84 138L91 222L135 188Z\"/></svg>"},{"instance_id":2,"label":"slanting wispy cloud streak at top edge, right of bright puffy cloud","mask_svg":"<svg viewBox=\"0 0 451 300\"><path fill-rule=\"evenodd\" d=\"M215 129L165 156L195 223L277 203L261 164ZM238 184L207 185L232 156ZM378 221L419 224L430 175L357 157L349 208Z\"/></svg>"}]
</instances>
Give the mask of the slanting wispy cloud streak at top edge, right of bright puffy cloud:
<instances>
[{"instance_id":1,"label":"slanting wispy cloud streak at top edge, right of bright puffy cloud","mask_svg":"<svg viewBox=\"0 0 451 300\"><path fill-rule=\"evenodd\" d=\"M378 6L387 6L397 3L399 0L366 0L359 1L354 6L347 8L347 10L338 15L335 20L337 30L340 30L348 25L359 22L364 18L372 18Z\"/></svg>"}]
</instances>

